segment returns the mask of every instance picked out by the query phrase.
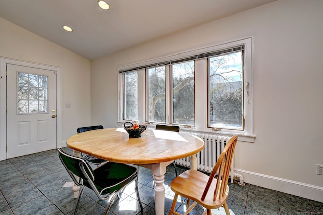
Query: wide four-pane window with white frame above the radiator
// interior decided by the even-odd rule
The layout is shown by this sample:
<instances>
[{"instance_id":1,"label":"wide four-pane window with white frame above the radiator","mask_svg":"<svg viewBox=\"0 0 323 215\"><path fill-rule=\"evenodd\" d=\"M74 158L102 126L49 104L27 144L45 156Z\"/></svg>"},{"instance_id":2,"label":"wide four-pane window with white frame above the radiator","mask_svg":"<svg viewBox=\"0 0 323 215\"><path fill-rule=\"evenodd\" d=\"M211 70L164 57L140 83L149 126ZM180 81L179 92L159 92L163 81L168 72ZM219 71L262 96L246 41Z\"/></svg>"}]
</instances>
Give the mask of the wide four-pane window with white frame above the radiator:
<instances>
[{"instance_id":1,"label":"wide four-pane window with white frame above the radiator","mask_svg":"<svg viewBox=\"0 0 323 215\"><path fill-rule=\"evenodd\" d=\"M119 67L120 123L176 124L254 142L251 39Z\"/></svg>"}]
</instances>

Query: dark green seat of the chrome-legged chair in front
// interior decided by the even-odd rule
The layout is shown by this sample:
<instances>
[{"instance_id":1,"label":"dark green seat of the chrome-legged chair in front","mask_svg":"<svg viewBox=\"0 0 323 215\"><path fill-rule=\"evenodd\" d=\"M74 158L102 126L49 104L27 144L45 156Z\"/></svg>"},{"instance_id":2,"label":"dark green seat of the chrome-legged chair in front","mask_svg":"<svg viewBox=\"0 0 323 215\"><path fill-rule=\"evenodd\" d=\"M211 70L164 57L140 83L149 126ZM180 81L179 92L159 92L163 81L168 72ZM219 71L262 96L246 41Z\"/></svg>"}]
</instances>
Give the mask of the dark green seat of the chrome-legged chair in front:
<instances>
[{"instance_id":1,"label":"dark green seat of the chrome-legged chair in front","mask_svg":"<svg viewBox=\"0 0 323 215\"><path fill-rule=\"evenodd\" d=\"M115 162L107 162L93 172L95 186L102 196L120 189L137 177L136 167ZM92 189L86 180L83 183Z\"/></svg>"}]
</instances>

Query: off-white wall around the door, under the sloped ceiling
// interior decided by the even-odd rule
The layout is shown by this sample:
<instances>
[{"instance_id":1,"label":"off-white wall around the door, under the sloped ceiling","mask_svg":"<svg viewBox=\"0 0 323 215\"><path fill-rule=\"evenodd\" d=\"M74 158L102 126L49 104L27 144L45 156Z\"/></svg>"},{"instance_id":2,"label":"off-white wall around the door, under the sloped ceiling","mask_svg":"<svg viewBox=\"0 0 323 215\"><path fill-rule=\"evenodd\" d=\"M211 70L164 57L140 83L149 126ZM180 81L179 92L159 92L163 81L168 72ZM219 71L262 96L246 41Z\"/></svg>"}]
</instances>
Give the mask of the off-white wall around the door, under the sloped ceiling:
<instances>
[{"instance_id":1,"label":"off-white wall around the door, under the sloped ceiling","mask_svg":"<svg viewBox=\"0 0 323 215\"><path fill-rule=\"evenodd\" d=\"M61 141L65 144L78 127L87 126L91 121L91 62L2 18L0 29L0 57L62 69ZM65 108L66 102L71 103L71 108Z\"/></svg>"}]
</instances>

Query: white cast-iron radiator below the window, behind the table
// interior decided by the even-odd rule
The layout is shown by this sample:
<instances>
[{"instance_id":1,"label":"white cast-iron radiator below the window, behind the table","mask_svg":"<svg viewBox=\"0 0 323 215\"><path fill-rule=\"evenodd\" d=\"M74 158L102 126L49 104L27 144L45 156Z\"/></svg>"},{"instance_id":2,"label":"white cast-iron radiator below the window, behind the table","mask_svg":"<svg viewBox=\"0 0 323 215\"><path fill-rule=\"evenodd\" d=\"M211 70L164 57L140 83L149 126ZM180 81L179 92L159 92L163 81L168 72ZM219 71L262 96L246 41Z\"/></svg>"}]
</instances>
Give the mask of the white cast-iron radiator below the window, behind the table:
<instances>
[{"instance_id":1,"label":"white cast-iron radiator below the window, behind the table","mask_svg":"<svg viewBox=\"0 0 323 215\"><path fill-rule=\"evenodd\" d=\"M220 156L222 150L224 149L226 143L229 141L230 136L220 136L215 134L207 133L192 133L194 136L200 137L204 141L204 149L196 154L197 159L197 169L203 172L211 173L213 167L216 165L218 157ZM190 157L185 157L183 159L176 160L176 164L190 167ZM232 160L230 178L231 183L233 183L234 176L234 160Z\"/></svg>"}]
</instances>

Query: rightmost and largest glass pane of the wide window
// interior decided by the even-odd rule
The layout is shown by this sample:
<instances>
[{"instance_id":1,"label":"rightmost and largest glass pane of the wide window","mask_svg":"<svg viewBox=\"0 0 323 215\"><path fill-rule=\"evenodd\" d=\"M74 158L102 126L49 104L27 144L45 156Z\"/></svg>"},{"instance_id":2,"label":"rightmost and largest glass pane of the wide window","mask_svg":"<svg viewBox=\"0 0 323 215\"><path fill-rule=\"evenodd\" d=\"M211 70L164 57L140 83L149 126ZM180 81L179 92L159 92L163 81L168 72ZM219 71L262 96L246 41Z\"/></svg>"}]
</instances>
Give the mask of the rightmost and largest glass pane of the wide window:
<instances>
[{"instance_id":1,"label":"rightmost and largest glass pane of the wide window","mask_svg":"<svg viewBox=\"0 0 323 215\"><path fill-rule=\"evenodd\" d=\"M242 51L209 58L209 126L243 129Z\"/></svg>"}]
</instances>

